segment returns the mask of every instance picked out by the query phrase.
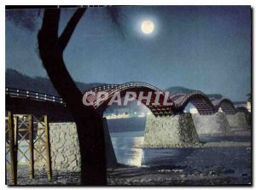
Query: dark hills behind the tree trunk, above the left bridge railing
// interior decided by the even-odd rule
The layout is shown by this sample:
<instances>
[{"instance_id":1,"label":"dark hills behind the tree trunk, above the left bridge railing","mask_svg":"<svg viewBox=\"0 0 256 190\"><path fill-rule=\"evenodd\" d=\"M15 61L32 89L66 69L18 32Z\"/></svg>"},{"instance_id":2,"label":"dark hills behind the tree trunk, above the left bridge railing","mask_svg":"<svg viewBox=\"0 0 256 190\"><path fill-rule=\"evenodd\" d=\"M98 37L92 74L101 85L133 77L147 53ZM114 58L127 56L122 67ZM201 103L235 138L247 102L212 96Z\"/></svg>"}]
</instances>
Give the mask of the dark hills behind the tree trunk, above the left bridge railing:
<instances>
[{"instance_id":1,"label":"dark hills behind the tree trunk, above the left bridge railing","mask_svg":"<svg viewBox=\"0 0 256 190\"><path fill-rule=\"evenodd\" d=\"M104 83L79 83L76 82L79 89L84 91L93 87L102 85ZM45 93L48 95L58 95L54 86L49 81L49 78L31 78L27 75L21 74L14 69L7 69L5 72L5 85L9 88L28 89Z\"/></svg>"}]
</instances>

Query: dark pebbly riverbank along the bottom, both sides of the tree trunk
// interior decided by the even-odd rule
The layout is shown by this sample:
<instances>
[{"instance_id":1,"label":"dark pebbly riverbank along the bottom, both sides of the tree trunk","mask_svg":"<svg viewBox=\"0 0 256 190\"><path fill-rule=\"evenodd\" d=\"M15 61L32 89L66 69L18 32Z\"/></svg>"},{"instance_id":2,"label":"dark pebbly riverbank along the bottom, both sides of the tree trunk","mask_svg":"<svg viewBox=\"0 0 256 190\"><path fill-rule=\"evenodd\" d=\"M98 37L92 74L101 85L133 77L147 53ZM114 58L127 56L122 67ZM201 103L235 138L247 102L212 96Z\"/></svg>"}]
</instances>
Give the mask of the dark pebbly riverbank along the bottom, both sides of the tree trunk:
<instances>
[{"instance_id":1,"label":"dark pebbly riverbank along the bottom, both sides of the tree trunk","mask_svg":"<svg viewBox=\"0 0 256 190\"><path fill-rule=\"evenodd\" d=\"M249 185L251 174L243 172L236 174L236 170L226 167L209 167L205 170L189 166L155 166L134 167L120 165L116 169L108 170L109 186L171 186L171 185ZM18 185L80 185L79 172L53 171L51 181L47 180L44 171L36 172L34 179L29 179L27 170L20 170ZM9 184L9 178L7 181Z\"/></svg>"}]
</instances>

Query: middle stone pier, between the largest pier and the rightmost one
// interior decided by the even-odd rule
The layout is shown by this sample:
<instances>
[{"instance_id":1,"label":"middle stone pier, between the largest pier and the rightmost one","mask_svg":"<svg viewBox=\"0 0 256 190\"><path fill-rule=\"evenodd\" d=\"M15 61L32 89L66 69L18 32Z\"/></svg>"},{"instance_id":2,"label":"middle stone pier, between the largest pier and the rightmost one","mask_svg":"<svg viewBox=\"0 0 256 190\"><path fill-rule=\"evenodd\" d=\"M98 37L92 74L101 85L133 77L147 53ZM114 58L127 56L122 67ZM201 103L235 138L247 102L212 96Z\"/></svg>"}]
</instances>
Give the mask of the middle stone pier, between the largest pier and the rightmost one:
<instances>
[{"instance_id":1,"label":"middle stone pier, between the largest pier and the rightmost one","mask_svg":"<svg viewBox=\"0 0 256 190\"><path fill-rule=\"evenodd\" d=\"M223 112L216 112L212 115L192 114L195 130L198 135L229 135L230 125Z\"/></svg>"}]
</instances>

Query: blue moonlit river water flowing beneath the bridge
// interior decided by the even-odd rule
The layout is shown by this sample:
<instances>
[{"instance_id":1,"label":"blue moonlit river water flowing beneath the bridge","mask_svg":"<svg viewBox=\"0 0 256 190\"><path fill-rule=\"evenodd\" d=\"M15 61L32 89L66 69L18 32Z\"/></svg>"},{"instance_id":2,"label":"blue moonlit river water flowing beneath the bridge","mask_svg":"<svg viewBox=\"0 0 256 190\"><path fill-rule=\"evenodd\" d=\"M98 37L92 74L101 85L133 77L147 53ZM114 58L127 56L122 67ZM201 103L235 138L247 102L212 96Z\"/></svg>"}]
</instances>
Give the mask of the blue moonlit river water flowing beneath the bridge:
<instances>
[{"instance_id":1,"label":"blue moonlit river water flowing beneath the bridge","mask_svg":"<svg viewBox=\"0 0 256 190\"><path fill-rule=\"evenodd\" d=\"M250 147L201 147L142 149L143 131L110 133L116 158L120 164L148 166L194 166L202 169L212 166L228 167L239 173L250 173ZM201 137L201 141L250 141L242 137Z\"/></svg>"}]
</instances>

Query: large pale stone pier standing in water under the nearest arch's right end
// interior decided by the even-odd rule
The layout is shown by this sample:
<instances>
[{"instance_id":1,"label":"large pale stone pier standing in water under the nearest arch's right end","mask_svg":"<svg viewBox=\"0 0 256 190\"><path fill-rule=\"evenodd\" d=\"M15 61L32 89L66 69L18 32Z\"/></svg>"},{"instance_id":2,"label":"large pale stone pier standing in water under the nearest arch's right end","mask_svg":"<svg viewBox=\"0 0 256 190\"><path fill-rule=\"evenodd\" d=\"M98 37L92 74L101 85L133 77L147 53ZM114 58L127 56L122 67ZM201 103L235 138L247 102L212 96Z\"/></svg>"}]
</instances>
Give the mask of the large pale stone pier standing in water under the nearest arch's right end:
<instances>
[{"instance_id":1,"label":"large pale stone pier standing in water under the nearest arch's right end","mask_svg":"<svg viewBox=\"0 0 256 190\"><path fill-rule=\"evenodd\" d=\"M190 113L154 117L146 121L144 145L147 148L194 147L200 144Z\"/></svg>"}]
</instances>

